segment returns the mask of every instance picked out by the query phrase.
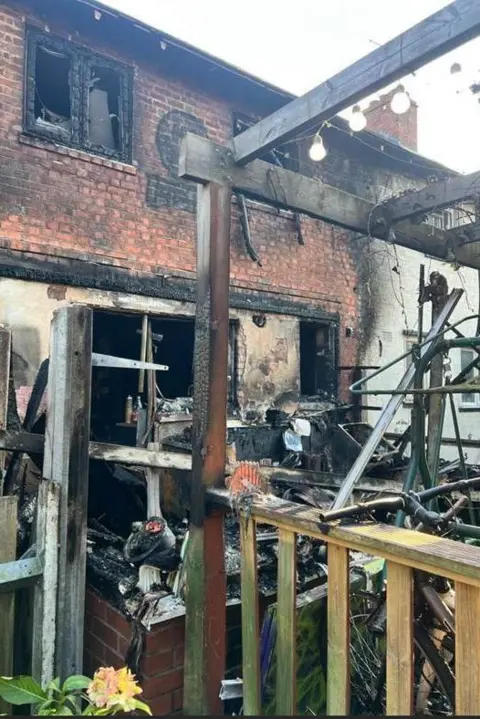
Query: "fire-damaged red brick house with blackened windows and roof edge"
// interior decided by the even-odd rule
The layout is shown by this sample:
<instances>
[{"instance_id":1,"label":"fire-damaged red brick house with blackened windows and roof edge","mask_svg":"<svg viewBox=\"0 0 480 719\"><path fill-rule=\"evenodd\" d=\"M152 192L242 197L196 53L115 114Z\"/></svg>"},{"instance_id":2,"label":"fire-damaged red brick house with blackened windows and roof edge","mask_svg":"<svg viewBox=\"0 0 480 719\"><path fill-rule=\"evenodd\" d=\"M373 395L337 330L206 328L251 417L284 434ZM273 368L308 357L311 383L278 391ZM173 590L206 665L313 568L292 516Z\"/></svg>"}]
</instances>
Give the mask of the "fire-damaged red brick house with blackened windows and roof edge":
<instances>
[{"instance_id":1,"label":"fire-damaged red brick house with blackened windows and roof edge","mask_svg":"<svg viewBox=\"0 0 480 719\"><path fill-rule=\"evenodd\" d=\"M164 336L159 361L170 367L161 390L187 396L195 186L177 177L181 138L189 131L227 144L291 95L93 1L63 0L61 11L58 0L0 2L0 58L0 324L13 332L20 415L62 303L93 307L94 351L121 357L138 358L148 313ZM324 136L329 153L317 167L308 140L264 159L376 202L444 175L388 137L364 131L359 142L341 119ZM375 319L363 290L369 244L234 202L232 412L262 417L289 390L345 397ZM111 433L135 392L128 381L119 373L109 387ZM94 396L93 418L105 417L105 404ZM87 610L90 663L121 661L126 621L93 595ZM144 676L155 714L181 708L181 622L149 637Z\"/></svg>"}]
</instances>

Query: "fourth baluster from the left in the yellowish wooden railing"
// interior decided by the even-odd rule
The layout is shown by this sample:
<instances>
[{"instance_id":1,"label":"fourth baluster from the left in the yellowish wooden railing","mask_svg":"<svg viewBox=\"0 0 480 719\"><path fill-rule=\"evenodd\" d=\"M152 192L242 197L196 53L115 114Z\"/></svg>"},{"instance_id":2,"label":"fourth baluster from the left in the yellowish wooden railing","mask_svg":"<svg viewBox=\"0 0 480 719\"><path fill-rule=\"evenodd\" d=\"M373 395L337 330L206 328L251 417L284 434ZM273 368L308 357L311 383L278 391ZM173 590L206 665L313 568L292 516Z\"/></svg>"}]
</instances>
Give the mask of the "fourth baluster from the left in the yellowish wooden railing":
<instances>
[{"instance_id":1,"label":"fourth baluster from the left in the yellowish wooden railing","mask_svg":"<svg viewBox=\"0 0 480 719\"><path fill-rule=\"evenodd\" d=\"M387 714L410 716L413 702L413 570L387 562Z\"/></svg>"}]
</instances>

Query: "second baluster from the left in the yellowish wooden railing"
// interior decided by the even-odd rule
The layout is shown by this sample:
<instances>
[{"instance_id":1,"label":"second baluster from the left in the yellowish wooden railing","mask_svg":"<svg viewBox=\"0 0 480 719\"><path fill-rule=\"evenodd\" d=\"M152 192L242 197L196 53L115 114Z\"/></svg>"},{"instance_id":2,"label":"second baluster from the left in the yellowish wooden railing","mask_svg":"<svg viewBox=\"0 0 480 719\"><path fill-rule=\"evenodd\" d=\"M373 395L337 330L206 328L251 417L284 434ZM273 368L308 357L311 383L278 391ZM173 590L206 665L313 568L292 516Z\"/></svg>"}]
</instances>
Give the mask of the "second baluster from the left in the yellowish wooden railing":
<instances>
[{"instance_id":1,"label":"second baluster from the left in the yellowish wooden railing","mask_svg":"<svg viewBox=\"0 0 480 719\"><path fill-rule=\"evenodd\" d=\"M296 534L278 530L277 716L297 709Z\"/></svg>"}]
</instances>

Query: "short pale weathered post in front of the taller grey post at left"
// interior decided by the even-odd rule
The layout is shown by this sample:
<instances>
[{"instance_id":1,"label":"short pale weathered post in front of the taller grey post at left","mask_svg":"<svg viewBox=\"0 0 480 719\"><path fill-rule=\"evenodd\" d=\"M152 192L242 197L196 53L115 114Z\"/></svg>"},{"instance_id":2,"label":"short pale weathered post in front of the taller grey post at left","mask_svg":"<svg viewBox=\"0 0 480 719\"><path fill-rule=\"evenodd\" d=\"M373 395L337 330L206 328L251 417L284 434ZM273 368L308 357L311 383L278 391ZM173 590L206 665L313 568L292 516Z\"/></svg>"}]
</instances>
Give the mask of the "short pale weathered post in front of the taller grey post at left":
<instances>
[{"instance_id":1,"label":"short pale weathered post in front of the taller grey post at left","mask_svg":"<svg viewBox=\"0 0 480 719\"><path fill-rule=\"evenodd\" d=\"M55 672L59 502L60 486L55 482L41 482L35 536L43 575L34 589L32 675L42 685L53 679Z\"/></svg>"}]
</instances>

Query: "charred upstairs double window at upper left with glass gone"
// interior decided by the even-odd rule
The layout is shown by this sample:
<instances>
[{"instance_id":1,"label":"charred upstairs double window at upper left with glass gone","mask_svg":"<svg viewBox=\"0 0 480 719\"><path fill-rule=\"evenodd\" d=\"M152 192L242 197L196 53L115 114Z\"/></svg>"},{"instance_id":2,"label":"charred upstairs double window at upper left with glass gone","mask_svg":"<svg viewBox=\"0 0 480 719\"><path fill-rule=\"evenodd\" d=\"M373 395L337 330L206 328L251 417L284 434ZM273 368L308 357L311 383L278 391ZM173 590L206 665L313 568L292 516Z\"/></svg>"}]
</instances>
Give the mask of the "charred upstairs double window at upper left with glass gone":
<instances>
[{"instance_id":1,"label":"charred upstairs double window at upper left with glass gone","mask_svg":"<svg viewBox=\"0 0 480 719\"><path fill-rule=\"evenodd\" d=\"M130 163L132 69L35 28L26 45L25 132Z\"/></svg>"}]
</instances>

